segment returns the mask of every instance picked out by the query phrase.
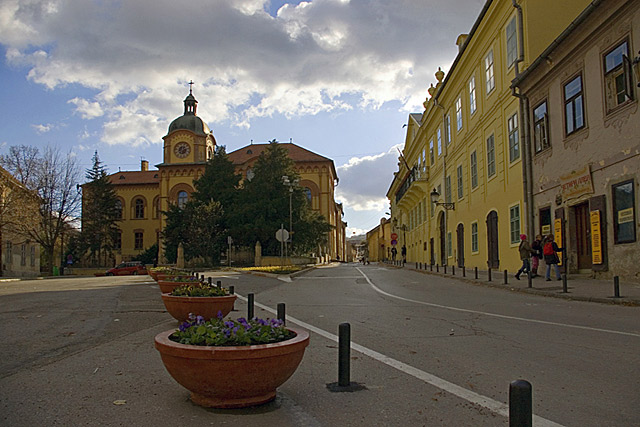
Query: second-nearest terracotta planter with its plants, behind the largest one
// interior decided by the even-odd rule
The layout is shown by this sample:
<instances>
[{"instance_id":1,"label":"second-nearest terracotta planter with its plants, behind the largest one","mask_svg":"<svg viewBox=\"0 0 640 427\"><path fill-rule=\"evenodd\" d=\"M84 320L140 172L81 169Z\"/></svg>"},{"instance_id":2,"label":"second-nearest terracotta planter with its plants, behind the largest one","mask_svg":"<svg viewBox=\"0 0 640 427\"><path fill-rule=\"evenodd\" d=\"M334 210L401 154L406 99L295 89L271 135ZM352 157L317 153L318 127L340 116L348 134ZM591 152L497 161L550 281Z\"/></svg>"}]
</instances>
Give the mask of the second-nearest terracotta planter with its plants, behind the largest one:
<instances>
[{"instance_id":1,"label":"second-nearest terracotta planter with its plants, behind the largest one","mask_svg":"<svg viewBox=\"0 0 640 427\"><path fill-rule=\"evenodd\" d=\"M235 295L225 288L218 288L205 282L180 285L171 292L162 294L162 302L169 314L180 322L189 318L190 313L210 319L218 312L226 316L233 310Z\"/></svg>"}]
</instances>

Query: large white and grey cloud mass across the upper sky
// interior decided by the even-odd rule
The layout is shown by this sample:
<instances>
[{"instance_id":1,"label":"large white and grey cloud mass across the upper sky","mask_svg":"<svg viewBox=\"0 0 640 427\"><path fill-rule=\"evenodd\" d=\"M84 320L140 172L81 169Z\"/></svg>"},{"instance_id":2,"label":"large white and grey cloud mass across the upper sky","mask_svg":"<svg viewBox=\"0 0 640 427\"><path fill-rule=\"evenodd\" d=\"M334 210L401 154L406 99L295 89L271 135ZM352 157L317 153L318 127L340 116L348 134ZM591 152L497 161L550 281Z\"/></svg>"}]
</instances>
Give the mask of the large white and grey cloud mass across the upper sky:
<instances>
[{"instance_id":1,"label":"large white and grey cloud mass across the upper sky","mask_svg":"<svg viewBox=\"0 0 640 427\"><path fill-rule=\"evenodd\" d=\"M393 100L417 111L483 3L313 0L273 17L268 0L5 0L0 40L33 82L95 89L76 112L104 120L102 141L136 145L160 142L190 79L212 128Z\"/></svg>"}]
</instances>

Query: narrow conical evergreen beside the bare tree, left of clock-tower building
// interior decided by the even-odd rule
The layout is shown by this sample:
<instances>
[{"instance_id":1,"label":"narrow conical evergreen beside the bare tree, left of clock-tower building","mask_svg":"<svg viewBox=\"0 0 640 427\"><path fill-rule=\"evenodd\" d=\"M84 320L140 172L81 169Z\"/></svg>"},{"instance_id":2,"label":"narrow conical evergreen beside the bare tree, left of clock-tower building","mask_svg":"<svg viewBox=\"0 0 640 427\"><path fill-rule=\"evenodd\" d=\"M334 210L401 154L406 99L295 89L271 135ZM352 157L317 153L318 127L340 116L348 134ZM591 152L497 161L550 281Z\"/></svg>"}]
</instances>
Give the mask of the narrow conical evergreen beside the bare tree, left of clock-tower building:
<instances>
[{"instance_id":1,"label":"narrow conical evergreen beside the bare tree, left of clock-tower building","mask_svg":"<svg viewBox=\"0 0 640 427\"><path fill-rule=\"evenodd\" d=\"M106 264L115 249L121 208L114 185L109 180L106 167L100 162L98 152L93 155L93 166L86 170L89 180L83 186L81 248L95 263Z\"/></svg>"}]
</instances>

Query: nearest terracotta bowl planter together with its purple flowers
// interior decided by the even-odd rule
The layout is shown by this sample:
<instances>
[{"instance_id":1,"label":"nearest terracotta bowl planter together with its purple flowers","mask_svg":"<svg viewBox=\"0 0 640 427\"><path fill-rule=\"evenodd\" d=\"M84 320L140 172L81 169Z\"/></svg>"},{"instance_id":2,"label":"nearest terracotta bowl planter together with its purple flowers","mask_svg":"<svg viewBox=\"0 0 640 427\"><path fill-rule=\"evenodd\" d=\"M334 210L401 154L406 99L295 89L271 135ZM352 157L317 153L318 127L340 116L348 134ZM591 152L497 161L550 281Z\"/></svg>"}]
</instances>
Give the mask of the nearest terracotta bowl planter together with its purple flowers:
<instances>
[{"instance_id":1,"label":"nearest terracotta bowl planter together with its purple flowers","mask_svg":"<svg viewBox=\"0 0 640 427\"><path fill-rule=\"evenodd\" d=\"M205 321L191 316L177 331L155 337L169 374L191 400L213 408L242 408L273 400L297 369L309 333L280 320ZM215 347L215 349L214 349Z\"/></svg>"}]
</instances>

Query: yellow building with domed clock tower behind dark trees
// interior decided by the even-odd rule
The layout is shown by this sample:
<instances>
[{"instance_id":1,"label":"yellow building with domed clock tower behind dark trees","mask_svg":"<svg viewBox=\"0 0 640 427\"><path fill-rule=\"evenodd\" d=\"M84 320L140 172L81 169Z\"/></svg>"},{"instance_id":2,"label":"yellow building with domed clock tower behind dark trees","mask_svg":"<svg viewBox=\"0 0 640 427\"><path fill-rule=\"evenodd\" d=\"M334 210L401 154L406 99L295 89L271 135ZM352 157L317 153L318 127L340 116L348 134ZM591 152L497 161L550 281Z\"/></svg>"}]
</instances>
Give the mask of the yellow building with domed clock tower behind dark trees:
<instances>
[{"instance_id":1,"label":"yellow building with domed clock tower behind dark trees","mask_svg":"<svg viewBox=\"0 0 640 427\"><path fill-rule=\"evenodd\" d=\"M163 137L163 162L157 170L149 170L146 160L139 171L119 171L111 174L120 207L119 249L116 262L129 260L155 243L162 247L160 231L165 218L162 211L169 204L183 204L194 191L193 181L204 173L206 162L213 156L216 140L207 124L197 116L198 101L191 91L184 100L184 114L169 125ZM246 173L266 144L254 144L229 153L236 171ZM328 236L326 255L331 259L345 253L345 226L342 205L335 203L334 189L338 177L333 161L295 144L283 144L296 163L300 185L308 189L312 206L335 229ZM162 259L160 250L159 262Z\"/></svg>"}]
</instances>

